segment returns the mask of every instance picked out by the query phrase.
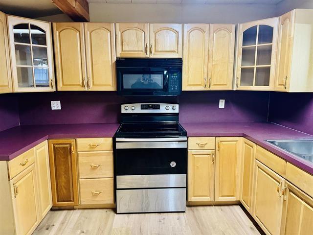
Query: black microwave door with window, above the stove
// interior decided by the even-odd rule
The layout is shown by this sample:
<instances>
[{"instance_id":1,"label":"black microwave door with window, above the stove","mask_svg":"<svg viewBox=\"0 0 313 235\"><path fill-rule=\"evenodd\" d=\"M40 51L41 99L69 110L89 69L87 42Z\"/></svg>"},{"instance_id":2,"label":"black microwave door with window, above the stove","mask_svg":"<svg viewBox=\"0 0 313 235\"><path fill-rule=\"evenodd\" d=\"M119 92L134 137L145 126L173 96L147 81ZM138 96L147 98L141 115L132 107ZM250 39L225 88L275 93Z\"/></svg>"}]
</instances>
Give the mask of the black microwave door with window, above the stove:
<instances>
[{"instance_id":1,"label":"black microwave door with window, above the stove","mask_svg":"<svg viewBox=\"0 0 313 235\"><path fill-rule=\"evenodd\" d=\"M117 68L120 95L167 95L168 71L162 68Z\"/></svg>"}]
</instances>

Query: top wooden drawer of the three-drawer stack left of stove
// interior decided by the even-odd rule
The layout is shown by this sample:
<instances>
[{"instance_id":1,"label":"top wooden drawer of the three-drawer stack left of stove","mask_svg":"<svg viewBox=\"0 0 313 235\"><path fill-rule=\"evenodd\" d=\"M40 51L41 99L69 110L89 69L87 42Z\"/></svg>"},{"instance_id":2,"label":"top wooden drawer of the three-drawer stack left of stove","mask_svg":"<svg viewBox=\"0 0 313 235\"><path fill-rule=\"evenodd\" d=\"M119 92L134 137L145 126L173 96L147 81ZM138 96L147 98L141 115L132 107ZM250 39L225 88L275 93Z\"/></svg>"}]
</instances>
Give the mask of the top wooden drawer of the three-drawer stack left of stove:
<instances>
[{"instance_id":1,"label":"top wooden drawer of the three-drawer stack left of stove","mask_svg":"<svg viewBox=\"0 0 313 235\"><path fill-rule=\"evenodd\" d=\"M112 138L77 139L77 151L109 151L112 150Z\"/></svg>"}]
</instances>

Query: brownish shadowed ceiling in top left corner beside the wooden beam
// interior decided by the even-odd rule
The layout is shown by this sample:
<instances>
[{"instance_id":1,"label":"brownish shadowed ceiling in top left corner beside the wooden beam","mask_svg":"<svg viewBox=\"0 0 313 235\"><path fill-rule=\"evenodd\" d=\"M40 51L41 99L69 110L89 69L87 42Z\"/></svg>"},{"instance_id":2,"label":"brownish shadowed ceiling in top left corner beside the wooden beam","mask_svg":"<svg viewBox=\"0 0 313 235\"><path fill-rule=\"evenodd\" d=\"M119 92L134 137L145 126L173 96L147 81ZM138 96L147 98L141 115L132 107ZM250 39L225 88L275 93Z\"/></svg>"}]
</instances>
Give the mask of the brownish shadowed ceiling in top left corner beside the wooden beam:
<instances>
[{"instance_id":1,"label":"brownish shadowed ceiling in top left corner beside the wooden beam","mask_svg":"<svg viewBox=\"0 0 313 235\"><path fill-rule=\"evenodd\" d=\"M0 11L29 18L62 13L51 0L0 0Z\"/></svg>"}]
</instances>

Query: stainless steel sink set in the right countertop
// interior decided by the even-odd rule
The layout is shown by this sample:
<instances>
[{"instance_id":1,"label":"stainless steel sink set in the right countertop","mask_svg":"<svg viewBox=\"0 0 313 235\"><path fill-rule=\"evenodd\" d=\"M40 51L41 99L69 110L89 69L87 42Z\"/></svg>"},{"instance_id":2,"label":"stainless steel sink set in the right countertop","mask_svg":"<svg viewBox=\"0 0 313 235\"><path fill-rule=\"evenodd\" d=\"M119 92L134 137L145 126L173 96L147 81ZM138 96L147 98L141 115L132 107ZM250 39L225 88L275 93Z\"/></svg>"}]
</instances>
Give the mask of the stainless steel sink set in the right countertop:
<instances>
[{"instance_id":1,"label":"stainless steel sink set in the right countertop","mask_svg":"<svg viewBox=\"0 0 313 235\"><path fill-rule=\"evenodd\" d=\"M268 140L268 142L313 163L313 140Z\"/></svg>"}]
</instances>

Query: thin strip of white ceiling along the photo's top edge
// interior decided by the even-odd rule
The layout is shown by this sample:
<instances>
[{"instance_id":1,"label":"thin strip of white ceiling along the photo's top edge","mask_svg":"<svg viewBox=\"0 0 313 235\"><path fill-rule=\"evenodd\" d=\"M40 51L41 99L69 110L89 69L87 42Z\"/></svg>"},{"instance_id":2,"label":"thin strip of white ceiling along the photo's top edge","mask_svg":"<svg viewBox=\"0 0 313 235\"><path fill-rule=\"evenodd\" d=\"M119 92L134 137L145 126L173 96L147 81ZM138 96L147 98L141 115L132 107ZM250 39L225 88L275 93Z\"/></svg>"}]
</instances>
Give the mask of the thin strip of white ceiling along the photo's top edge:
<instances>
[{"instance_id":1,"label":"thin strip of white ceiling along the photo's top edge","mask_svg":"<svg viewBox=\"0 0 313 235\"><path fill-rule=\"evenodd\" d=\"M277 4L282 0L88 0L89 3Z\"/></svg>"}]
</instances>

